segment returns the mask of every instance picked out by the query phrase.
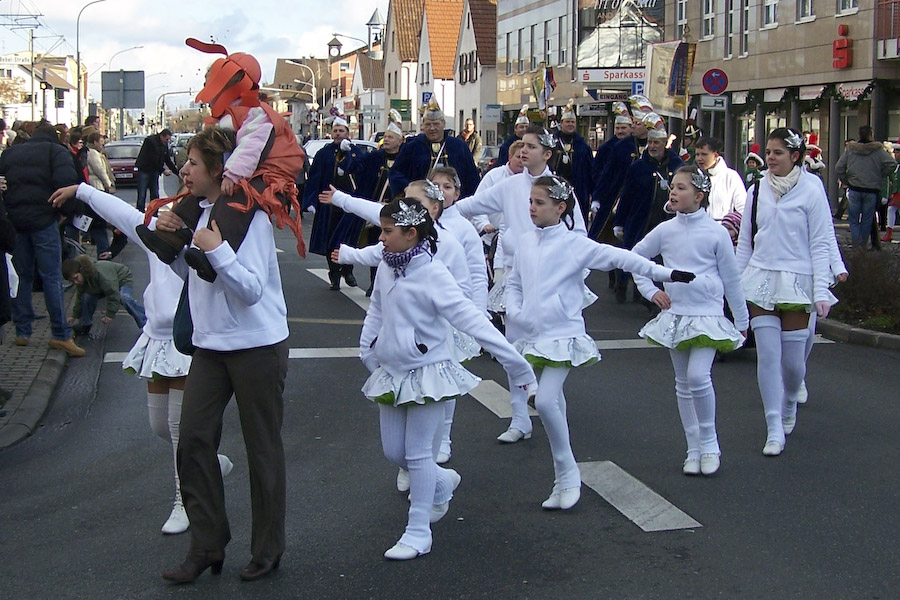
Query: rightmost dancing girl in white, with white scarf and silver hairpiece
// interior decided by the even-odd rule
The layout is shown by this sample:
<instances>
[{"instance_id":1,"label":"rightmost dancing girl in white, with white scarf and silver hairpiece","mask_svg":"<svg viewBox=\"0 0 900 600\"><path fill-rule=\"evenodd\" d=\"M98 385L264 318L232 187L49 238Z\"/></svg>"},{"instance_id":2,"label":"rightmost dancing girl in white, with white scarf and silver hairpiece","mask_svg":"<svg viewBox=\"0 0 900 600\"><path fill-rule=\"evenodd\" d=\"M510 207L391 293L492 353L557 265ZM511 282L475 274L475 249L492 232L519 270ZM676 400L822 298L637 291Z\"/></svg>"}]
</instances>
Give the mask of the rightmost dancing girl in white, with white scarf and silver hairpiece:
<instances>
[{"instance_id":1,"label":"rightmost dancing girl in white, with white scarf and silver hairpiece","mask_svg":"<svg viewBox=\"0 0 900 600\"><path fill-rule=\"evenodd\" d=\"M822 181L801 168L803 136L779 127L766 143L768 170L747 190L737 264L756 336L757 380L766 413L763 454L784 450L796 425L806 375L809 314L828 315L837 298L829 236L833 225ZM749 221L749 222L748 222Z\"/></svg>"}]
</instances>

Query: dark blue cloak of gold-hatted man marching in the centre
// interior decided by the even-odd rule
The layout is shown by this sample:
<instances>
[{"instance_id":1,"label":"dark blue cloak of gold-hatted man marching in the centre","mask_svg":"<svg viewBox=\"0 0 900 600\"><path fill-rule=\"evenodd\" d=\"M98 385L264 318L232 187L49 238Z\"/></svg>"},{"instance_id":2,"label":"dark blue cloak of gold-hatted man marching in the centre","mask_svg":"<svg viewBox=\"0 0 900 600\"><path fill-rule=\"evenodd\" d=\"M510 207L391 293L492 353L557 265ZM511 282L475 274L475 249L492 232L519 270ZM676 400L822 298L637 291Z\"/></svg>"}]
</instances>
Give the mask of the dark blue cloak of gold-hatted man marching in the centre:
<instances>
[{"instance_id":1,"label":"dark blue cloak of gold-hatted man marching in the centre","mask_svg":"<svg viewBox=\"0 0 900 600\"><path fill-rule=\"evenodd\" d=\"M444 152L447 154L449 164L445 167L453 167L459 174L462 183L460 197L465 198L475 193L478 182L478 169L469 152L469 146L459 138L450 135L450 130L444 130ZM391 169L391 191L398 195L410 182L428 177L431 167L431 142L420 133L411 140L407 140L400 147L400 154Z\"/></svg>"}]
</instances>

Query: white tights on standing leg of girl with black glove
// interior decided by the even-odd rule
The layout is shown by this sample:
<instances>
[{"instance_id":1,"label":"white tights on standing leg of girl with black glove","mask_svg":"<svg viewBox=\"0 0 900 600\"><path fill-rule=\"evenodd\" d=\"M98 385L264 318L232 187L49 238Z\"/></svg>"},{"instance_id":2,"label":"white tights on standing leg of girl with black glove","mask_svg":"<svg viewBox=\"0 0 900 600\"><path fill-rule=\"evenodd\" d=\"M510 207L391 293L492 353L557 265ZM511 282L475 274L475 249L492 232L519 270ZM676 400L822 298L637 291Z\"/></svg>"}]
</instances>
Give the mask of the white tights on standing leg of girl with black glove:
<instances>
[{"instance_id":1,"label":"white tights on standing leg of girl with black glove","mask_svg":"<svg viewBox=\"0 0 900 600\"><path fill-rule=\"evenodd\" d=\"M581 473L572 454L569 442L569 423L566 420L566 396L563 385L569 375L568 367L544 367L541 371L535 408L550 440L553 454L553 491L558 492L581 486Z\"/></svg>"}]
</instances>

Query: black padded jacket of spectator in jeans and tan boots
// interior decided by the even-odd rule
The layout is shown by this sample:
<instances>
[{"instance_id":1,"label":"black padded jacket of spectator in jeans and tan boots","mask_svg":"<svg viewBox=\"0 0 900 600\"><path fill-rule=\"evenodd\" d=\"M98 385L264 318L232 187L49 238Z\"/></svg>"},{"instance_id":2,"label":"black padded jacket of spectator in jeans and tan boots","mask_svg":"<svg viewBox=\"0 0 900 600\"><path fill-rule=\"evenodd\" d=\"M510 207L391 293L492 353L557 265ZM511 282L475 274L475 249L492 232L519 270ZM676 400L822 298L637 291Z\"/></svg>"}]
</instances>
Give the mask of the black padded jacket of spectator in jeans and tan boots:
<instances>
[{"instance_id":1,"label":"black padded jacket of spectator in jeans and tan boots","mask_svg":"<svg viewBox=\"0 0 900 600\"><path fill-rule=\"evenodd\" d=\"M57 189L78 183L72 153L57 136L41 132L0 154L0 175L6 176L9 220L20 232L55 223L57 211L47 200Z\"/></svg>"}]
</instances>

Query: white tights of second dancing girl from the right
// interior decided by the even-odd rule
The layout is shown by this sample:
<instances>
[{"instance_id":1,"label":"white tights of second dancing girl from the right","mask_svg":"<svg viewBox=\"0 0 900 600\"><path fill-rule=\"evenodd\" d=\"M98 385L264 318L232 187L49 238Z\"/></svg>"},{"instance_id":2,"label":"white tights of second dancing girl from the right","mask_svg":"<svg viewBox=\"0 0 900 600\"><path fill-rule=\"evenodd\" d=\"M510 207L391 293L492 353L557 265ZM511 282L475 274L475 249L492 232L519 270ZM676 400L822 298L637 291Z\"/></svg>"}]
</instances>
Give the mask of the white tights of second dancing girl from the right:
<instances>
[{"instance_id":1,"label":"white tights of second dancing girl from the right","mask_svg":"<svg viewBox=\"0 0 900 600\"><path fill-rule=\"evenodd\" d=\"M701 454L720 454L716 392L710 376L715 348L669 350L669 355L675 369L675 397L687 440L688 459L699 460Z\"/></svg>"}]
</instances>

